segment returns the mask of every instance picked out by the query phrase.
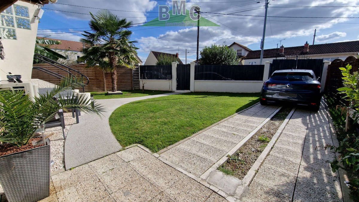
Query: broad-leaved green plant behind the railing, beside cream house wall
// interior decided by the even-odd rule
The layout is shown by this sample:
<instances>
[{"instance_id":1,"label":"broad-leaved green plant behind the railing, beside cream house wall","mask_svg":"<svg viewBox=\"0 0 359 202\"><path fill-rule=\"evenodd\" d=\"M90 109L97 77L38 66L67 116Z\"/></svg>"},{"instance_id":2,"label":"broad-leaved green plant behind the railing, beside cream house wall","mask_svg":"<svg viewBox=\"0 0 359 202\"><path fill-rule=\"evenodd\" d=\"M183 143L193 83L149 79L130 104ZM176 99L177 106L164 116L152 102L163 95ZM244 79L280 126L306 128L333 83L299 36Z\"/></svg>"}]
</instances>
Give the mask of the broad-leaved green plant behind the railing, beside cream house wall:
<instances>
[{"instance_id":1,"label":"broad-leaved green plant behind the railing, beside cream house wall","mask_svg":"<svg viewBox=\"0 0 359 202\"><path fill-rule=\"evenodd\" d=\"M65 56L63 56L49 48L49 45L59 45L59 44L61 44L61 41L36 38L34 53L43 55L43 56L50 58L51 60L55 60L55 61L59 60L59 59L67 59ZM33 64L36 64L36 63L43 63L43 61L34 58Z\"/></svg>"}]
</instances>

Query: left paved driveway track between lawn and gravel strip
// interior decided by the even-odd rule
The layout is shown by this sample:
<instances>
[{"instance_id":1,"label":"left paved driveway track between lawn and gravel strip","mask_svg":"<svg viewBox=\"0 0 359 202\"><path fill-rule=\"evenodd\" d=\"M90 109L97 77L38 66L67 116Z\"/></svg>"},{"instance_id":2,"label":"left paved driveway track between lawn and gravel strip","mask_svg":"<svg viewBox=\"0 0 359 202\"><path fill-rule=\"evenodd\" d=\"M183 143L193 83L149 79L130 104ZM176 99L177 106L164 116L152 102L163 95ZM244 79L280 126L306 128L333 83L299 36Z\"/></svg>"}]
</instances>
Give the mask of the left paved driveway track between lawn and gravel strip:
<instances>
[{"instance_id":1,"label":"left paved driveway track between lawn and gravel strip","mask_svg":"<svg viewBox=\"0 0 359 202\"><path fill-rule=\"evenodd\" d=\"M161 153L160 156L199 177L278 108L257 104ZM254 121L257 125L247 124Z\"/></svg>"}]
</instances>

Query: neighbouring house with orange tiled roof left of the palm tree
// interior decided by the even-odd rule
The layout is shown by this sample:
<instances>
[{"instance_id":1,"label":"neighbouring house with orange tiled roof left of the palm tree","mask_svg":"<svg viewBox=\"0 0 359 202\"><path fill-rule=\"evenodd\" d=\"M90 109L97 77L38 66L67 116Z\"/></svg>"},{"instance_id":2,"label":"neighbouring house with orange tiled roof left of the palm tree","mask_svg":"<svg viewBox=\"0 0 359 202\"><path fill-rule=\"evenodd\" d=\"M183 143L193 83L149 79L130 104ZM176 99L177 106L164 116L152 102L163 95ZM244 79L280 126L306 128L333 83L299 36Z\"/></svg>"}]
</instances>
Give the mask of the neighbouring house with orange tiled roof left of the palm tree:
<instances>
[{"instance_id":1,"label":"neighbouring house with orange tiled roof left of the palm tree","mask_svg":"<svg viewBox=\"0 0 359 202\"><path fill-rule=\"evenodd\" d=\"M61 44L58 45L44 45L48 47L49 49L65 56L67 60L60 59L61 64L65 65L71 65L79 63L78 59L83 56L82 49L84 48L84 44L82 42L78 41L68 41L68 40L60 40L55 38L45 38L45 37L37 37L42 39L49 39L49 40L55 40L60 41Z\"/></svg>"}]
</instances>

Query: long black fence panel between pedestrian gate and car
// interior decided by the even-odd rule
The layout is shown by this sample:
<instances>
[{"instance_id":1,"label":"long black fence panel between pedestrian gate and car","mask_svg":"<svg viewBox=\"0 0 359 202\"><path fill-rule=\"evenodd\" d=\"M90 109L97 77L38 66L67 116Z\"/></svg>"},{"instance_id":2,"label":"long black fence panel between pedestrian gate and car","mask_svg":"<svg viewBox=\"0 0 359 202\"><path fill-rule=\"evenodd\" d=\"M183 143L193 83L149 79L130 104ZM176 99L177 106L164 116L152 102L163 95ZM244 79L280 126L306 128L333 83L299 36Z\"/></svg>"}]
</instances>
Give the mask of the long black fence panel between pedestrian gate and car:
<instances>
[{"instance_id":1,"label":"long black fence panel between pedestrian gate and car","mask_svg":"<svg viewBox=\"0 0 359 202\"><path fill-rule=\"evenodd\" d=\"M198 65L195 80L263 81L264 65Z\"/></svg>"}]
</instances>

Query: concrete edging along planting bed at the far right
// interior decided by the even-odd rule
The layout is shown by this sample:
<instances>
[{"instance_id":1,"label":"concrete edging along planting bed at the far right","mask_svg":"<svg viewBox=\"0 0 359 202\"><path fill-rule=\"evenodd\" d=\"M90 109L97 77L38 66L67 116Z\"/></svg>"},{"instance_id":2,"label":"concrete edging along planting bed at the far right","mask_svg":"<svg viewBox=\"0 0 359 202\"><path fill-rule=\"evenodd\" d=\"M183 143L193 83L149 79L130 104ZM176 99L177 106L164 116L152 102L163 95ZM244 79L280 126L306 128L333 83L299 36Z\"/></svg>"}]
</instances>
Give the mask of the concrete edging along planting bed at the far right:
<instances>
[{"instance_id":1,"label":"concrete edging along planting bed at the far right","mask_svg":"<svg viewBox=\"0 0 359 202\"><path fill-rule=\"evenodd\" d=\"M331 134L331 137L332 137L332 140L333 140L333 145L334 147L338 147L339 146L339 141L337 139L337 135L336 135L336 130L335 130L335 127L334 127L334 122L332 120L332 117L330 115L330 112L329 112L329 107L328 107L328 104L327 104L327 101L326 99L324 99L324 103L325 103L325 109L326 109L326 112L327 112L327 117L328 117L328 120L329 120L329 126L330 126L330 134ZM338 157L340 155L339 152L335 152L335 156ZM340 165L342 166L342 164L340 163ZM341 187L341 193L342 193L342 196L343 196L343 201L344 202L352 202L353 200L350 199L350 190L348 187L346 187L344 181L348 181L348 173L346 172L346 170L344 169L341 169L339 168L338 170L339 172L339 180L340 180L340 187Z\"/></svg>"}]
</instances>

